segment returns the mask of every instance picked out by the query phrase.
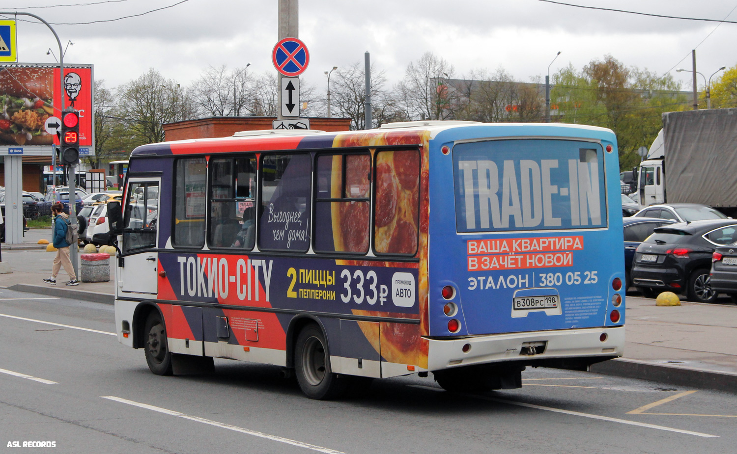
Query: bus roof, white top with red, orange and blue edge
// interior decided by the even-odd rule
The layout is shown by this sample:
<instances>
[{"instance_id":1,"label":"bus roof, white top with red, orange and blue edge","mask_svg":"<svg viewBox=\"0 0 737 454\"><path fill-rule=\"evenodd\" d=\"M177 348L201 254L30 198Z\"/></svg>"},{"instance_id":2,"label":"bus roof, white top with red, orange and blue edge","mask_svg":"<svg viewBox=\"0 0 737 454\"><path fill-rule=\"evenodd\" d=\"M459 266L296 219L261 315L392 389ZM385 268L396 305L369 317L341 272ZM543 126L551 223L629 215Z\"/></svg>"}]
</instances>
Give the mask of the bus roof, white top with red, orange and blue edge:
<instances>
[{"instance_id":1,"label":"bus roof, white top with red, orange and blue edge","mask_svg":"<svg viewBox=\"0 0 737 454\"><path fill-rule=\"evenodd\" d=\"M474 130L471 130L473 128ZM483 130L481 130L483 128ZM613 132L607 128L581 124L564 123L480 123L478 121L402 121L383 124L374 130L321 132L315 130L259 130L236 132L231 137L186 139L183 141L149 143L136 147L131 157L186 155L201 153L203 149L213 152L261 152L279 149L325 149L332 148L336 137L355 136L357 146L366 146L372 136L403 135L404 132L430 132L435 138L441 132L449 130L465 130L476 137L500 137L517 135L524 128L524 135L537 136L572 136L571 130L584 136L601 136L601 133ZM586 131L587 133L584 133ZM567 134L566 134L567 132ZM462 134L465 135L465 134ZM450 140L455 140L451 138ZM113 163L126 163L114 161Z\"/></svg>"}]
</instances>

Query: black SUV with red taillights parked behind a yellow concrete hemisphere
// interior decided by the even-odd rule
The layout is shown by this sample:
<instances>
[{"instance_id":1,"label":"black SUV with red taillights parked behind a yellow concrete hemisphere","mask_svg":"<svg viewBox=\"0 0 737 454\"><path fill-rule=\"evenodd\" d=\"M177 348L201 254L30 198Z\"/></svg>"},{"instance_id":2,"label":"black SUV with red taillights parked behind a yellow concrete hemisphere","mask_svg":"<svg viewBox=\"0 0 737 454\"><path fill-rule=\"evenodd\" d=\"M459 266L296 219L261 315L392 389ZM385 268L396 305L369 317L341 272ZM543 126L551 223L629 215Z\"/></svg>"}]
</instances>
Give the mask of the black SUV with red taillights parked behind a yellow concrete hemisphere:
<instances>
[{"instance_id":1,"label":"black SUV with red taillights parked behind a yellow concrete hemisphere","mask_svg":"<svg viewBox=\"0 0 737 454\"><path fill-rule=\"evenodd\" d=\"M682 294L691 301L713 302L711 259L718 246L737 241L737 221L708 219L657 227L635 250L632 283L645 297L661 291Z\"/></svg>"}]
</instances>

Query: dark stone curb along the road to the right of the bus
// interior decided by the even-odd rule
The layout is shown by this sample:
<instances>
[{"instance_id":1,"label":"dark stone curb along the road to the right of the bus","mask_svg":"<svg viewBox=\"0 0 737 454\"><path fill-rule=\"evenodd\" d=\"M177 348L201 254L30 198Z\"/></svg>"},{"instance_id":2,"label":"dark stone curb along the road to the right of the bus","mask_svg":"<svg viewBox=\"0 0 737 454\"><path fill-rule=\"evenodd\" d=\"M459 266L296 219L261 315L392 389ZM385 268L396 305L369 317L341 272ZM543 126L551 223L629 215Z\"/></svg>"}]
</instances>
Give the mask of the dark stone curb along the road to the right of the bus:
<instances>
[{"instance_id":1,"label":"dark stone curb along the road to the right of the bus","mask_svg":"<svg viewBox=\"0 0 737 454\"><path fill-rule=\"evenodd\" d=\"M640 378L691 388L716 389L737 394L737 374L692 367L657 364L636 359L612 359L589 366L589 372Z\"/></svg>"}]
</instances>

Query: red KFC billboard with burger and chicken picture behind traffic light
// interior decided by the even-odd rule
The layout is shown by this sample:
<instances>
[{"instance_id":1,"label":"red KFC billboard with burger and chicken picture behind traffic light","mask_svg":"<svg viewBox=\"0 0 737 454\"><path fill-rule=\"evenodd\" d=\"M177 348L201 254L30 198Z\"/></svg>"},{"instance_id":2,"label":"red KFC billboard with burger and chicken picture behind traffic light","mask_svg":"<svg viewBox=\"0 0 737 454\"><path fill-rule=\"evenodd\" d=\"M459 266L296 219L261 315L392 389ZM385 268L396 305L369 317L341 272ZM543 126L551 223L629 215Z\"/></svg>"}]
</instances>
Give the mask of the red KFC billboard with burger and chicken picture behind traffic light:
<instances>
[{"instance_id":1,"label":"red KFC billboard with burger and chicken picture behind traffic light","mask_svg":"<svg viewBox=\"0 0 737 454\"><path fill-rule=\"evenodd\" d=\"M44 124L56 124L61 110L80 112L80 155L94 155L94 79L92 65L0 66L0 155L50 155L56 135ZM60 92L61 91L61 92Z\"/></svg>"}]
</instances>

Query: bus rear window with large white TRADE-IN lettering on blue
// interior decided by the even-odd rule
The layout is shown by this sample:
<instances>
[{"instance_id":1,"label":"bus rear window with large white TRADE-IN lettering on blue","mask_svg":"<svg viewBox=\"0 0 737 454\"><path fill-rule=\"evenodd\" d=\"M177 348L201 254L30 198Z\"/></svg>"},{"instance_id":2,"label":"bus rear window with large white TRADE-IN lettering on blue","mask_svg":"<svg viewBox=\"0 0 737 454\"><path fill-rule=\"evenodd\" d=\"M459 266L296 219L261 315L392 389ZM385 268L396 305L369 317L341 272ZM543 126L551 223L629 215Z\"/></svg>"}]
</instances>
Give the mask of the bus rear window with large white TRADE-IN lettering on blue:
<instances>
[{"instance_id":1,"label":"bus rear window with large white TRADE-IN lettering on blue","mask_svg":"<svg viewBox=\"0 0 737 454\"><path fill-rule=\"evenodd\" d=\"M607 226L598 143L526 139L453 147L458 232Z\"/></svg>"}]
</instances>

